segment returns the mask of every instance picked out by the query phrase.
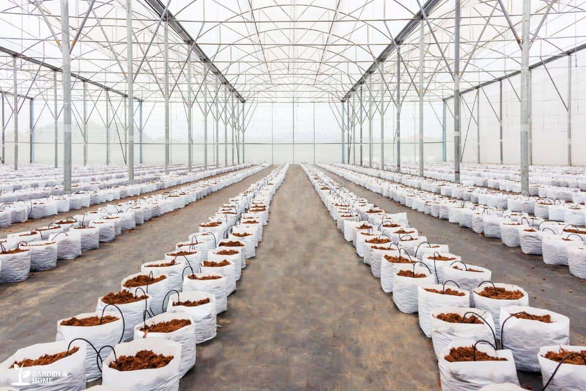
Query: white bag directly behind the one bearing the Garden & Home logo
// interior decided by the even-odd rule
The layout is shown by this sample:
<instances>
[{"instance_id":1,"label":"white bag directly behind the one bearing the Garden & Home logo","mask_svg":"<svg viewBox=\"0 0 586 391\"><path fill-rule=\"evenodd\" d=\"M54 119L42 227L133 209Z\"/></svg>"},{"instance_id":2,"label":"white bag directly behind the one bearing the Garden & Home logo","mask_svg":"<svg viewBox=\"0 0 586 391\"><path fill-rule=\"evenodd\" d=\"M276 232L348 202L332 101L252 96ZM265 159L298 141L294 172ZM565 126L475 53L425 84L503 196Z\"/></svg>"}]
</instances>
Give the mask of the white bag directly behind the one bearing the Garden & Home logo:
<instances>
[{"instance_id":1,"label":"white bag directly behind the one bearing the Garden & Home logo","mask_svg":"<svg viewBox=\"0 0 586 391\"><path fill-rule=\"evenodd\" d=\"M117 319L112 322L103 323L96 326L64 326L61 322L66 321L70 318L59 319L57 321L57 336L56 341L71 341L75 338L84 338L91 342L96 349L100 349L104 345L114 346L122 339L124 334L123 322L120 312L117 312L114 306L108 307L111 311L104 311L105 316L116 317ZM114 312L113 312L114 311ZM102 311L86 312L84 314L74 315L78 319L98 317L102 318ZM83 341L79 341L83 342ZM100 357L105 359L108 356L108 352L100 352ZM94 349L86 344L86 382L91 382L100 378L101 372L98 369L97 353Z\"/></svg>"}]
</instances>

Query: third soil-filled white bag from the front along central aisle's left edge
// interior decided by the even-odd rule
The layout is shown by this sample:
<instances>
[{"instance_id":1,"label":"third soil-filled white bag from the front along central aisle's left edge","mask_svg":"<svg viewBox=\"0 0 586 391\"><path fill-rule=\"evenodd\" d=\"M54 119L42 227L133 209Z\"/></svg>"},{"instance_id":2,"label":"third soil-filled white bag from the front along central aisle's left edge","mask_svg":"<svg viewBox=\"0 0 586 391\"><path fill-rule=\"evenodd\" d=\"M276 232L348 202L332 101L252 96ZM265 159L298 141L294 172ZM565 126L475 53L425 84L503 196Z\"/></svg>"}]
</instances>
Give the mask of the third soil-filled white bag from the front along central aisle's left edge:
<instances>
[{"instance_id":1,"label":"third soil-filled white bag from the front along central aisle's left edge","mask_svg":"<svg viewBox=\"0 0 586 391\"><path fill-rule=\"evenodd\" d=\"M183 305L187 301L197 302L205 299L209 299L206 304ZM189 314L195 327L196 344L209 341L216 336L216 296L213 293L203 291L183 292L179 295L179 298L171 297L169 299L167 312L186 312Z\"/></svg>"}]
</instances>

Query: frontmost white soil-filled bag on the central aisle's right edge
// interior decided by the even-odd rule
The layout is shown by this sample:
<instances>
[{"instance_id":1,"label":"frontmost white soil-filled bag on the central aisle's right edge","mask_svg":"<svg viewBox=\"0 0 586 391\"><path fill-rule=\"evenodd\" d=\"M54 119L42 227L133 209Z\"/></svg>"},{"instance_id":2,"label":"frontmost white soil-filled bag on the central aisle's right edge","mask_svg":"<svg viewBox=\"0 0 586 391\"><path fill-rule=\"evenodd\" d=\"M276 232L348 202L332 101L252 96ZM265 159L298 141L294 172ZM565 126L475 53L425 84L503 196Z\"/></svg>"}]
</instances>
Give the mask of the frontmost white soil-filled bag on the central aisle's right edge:
<instances>
[{"instance_id":1,"label":"frontmost white soil-filled bag on the central aisle's right edge","mask_svg":"<svg viewBox=\"0 0 586 391\"><path fill-rule=\"evenodd\" d=\"M509 350L495 351L488 344L476 345L476 350L486 354L506 358L506 361L465 361L448 362L444 356L451 348L472 346L473 339L456 339L449 344L438 358L442 391L472 391L492 383L513 383L519 385L513 354Z\"/></svg>"}]
</instances>

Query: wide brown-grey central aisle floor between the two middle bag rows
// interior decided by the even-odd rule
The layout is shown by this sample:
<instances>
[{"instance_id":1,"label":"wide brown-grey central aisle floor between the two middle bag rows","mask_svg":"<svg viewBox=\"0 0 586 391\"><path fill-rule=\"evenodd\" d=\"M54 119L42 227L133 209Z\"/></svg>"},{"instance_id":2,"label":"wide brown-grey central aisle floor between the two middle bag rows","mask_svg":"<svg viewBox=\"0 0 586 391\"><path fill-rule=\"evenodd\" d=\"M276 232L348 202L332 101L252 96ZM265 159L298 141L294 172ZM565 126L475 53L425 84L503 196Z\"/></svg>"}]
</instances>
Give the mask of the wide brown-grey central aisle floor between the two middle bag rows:
<instances>
[{"instance_id":1,"label":"wide brown-grey central aisle floor between the two middle bag rows","mask_svg":"<svg viewBox=\"0 0 586 391\"><path fill-rule=\"evenodd\" d=\"M439 390L431 341L336 229L299 165L181 390ZM423 369L424 368L424 369Z\"/></svg>"}]
</instances>

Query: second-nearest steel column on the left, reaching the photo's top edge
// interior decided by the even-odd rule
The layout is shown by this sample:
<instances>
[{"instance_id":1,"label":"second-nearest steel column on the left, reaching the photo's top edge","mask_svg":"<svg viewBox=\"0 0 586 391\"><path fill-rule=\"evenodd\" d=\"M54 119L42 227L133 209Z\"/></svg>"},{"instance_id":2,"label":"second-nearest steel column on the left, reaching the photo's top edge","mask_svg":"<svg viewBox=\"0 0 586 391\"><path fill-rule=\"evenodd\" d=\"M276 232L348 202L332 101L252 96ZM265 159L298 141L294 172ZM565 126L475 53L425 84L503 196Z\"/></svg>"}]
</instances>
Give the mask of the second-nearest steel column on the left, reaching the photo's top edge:
<instances>
[{"instance_id":1,"label":"second-nearest steel column on the left, reaching the photo's top edge","mask_svg":"<svg viewBox=\"0 0 586 391\"><path fill-rule=\"evenodd\" d=\"M126 53L128 94L128 180L134 181L134 63L132 55L132 0L126 0Z\"/></svg>"}]
</instances>

